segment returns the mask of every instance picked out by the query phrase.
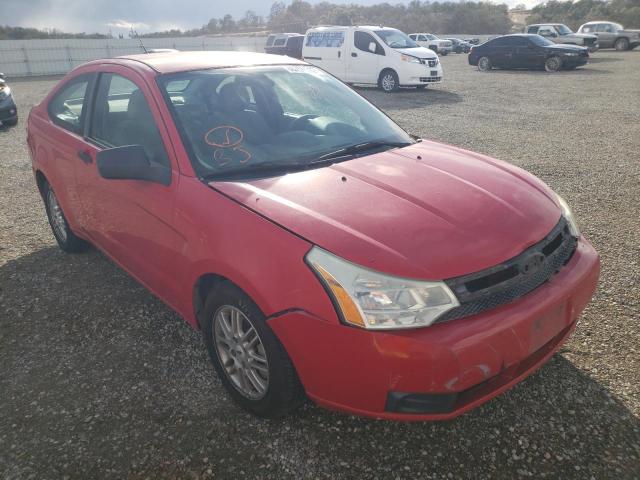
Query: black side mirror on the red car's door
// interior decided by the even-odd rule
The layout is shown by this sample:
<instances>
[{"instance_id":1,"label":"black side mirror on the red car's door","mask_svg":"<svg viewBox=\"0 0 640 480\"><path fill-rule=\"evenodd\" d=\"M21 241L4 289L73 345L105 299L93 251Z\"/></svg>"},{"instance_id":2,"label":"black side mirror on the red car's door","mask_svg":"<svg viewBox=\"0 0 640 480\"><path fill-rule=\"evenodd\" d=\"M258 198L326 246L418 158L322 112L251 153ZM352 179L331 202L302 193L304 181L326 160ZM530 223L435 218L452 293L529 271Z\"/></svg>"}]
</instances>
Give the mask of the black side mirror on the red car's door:
<instances>
[{"instance_id":1,"label":"black side mirror on the red car's door","mask_svg":"<svg viewBox=\"0 0 640 480\"><path fill-rule=\"evenodd\" d=\"M145 180L169 185L171 169L153 165L142 145L108 148L96 154L100 176L109 180Z\"/></svg>"}]
</instances>

